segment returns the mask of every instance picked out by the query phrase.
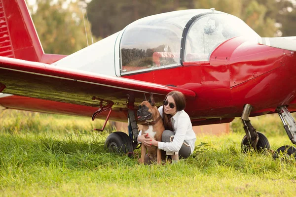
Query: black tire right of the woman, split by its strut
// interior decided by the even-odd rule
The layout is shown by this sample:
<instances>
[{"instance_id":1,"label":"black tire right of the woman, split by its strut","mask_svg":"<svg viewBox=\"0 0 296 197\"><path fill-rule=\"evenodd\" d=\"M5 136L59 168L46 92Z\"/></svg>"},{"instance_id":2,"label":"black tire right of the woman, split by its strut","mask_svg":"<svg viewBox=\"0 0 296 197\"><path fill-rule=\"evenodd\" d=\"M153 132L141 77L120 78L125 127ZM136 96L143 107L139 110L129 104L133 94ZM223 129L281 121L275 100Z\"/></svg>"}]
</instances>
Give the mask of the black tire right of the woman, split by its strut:
<instances>
[{"instance_id":1,"label":"black tire right of the woman, split by its strut","mask_svg":"<svg viewBox=\"0 0 296 197\"><path fill-rule=\"evenodd\" d=\"M262 153L264 151L270 150L270 145L269 145L267 137L259 131L257 131L257 133L259 136L259 140L258 140L255 151ZM242 139L241 148L242 148L243 153L250 151L250 142L247 138L247 135L245 135Z\"/></svg>"}]
</instances>

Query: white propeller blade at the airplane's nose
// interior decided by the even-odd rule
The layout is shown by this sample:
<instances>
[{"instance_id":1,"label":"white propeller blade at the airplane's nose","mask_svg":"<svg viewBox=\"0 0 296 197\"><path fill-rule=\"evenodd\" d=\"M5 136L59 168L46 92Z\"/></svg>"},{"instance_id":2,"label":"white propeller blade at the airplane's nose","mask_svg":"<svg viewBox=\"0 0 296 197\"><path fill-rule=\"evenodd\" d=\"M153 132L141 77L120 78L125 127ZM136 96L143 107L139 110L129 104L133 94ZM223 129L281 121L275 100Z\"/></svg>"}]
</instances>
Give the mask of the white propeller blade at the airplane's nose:
<instances>
[{"instance_id":1,"label":"white propeller blade at the airplane's nose","mask_svg":"<svg viewBox=\"0 0 296 197\"><path fill-rule=\"evenodd\" d=\"M291 37L260 37L258 44L289 51L296 51L296 36Z\"/></svg>"}]
</instances>

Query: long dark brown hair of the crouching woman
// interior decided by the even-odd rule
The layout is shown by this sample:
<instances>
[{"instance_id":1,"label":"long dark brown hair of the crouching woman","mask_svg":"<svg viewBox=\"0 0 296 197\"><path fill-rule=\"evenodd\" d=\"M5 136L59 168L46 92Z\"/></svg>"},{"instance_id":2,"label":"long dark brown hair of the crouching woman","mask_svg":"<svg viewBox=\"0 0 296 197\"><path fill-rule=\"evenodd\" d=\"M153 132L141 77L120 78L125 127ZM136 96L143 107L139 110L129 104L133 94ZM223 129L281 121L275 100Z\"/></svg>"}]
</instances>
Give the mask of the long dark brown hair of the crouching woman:
<instances>
[{"instance_id":1,"label":"long dark brown hair of the crouching woman","mask_svg":"<svg viewBox=\"0 0 296 197\"><path fill-rule=\"evenodd\" d=\"M177 111L182 111L183 109L185 109L186 99L182 92L172 91L169 94L167 94L164 100L166 100L168 96L173 97L176 104ZM172 115L164 113L164 106L162 108L162 115L163 115L162 119L163 119L165 130L174 131L174 128L172 127L172 123L171 123Z\"/></svg>"}]
</instances>

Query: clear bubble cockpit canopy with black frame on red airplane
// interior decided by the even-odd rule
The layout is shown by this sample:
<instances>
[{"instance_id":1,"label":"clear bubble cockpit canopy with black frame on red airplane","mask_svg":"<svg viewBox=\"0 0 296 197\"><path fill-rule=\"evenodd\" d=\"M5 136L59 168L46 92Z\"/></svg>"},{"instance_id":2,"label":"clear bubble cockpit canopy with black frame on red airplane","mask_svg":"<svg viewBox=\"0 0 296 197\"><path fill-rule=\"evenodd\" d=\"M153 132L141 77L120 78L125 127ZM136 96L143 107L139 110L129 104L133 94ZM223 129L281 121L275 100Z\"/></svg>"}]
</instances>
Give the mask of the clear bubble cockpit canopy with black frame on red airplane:
<instances>
[{"instance_id":1,"label":"clear bubble cockpit canopy with black frame on red airplane","mask_svg":"<svg viewBox=\"0 0 296 197\"><path fill-rule=\"evenodd\" d=\"M148 16L128 25L121 37L121 74L209 61L225 40L259 35L239 18L209 9ZM185 47L184 47L185 46Z\"/></svg>"}]
</instances>

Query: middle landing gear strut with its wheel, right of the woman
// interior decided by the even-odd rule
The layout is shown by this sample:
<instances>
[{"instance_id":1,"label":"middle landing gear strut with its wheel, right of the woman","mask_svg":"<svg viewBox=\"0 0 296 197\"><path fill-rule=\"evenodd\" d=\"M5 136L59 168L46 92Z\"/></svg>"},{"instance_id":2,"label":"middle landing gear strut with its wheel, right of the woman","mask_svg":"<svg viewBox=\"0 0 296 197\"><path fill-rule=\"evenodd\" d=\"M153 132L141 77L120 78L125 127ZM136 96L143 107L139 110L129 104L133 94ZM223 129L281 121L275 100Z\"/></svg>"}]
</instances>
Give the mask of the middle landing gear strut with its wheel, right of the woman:
<instances>
[{"instance_id":1,"label":"middle landing gear strut with its wheel, right of the woman","mask_svg":"<svg viewBox=\"0 0 296 197\"><path fill-rule=\"evenodd\" d=\"M252 105L246 104L241 117L246 132L241 142L242 151L247 152L248 150L254 149L261 152L263 150L269 150L270 145L266 136L256 131L249 120L251 110Z\"/></svg>"}]
</instances>

